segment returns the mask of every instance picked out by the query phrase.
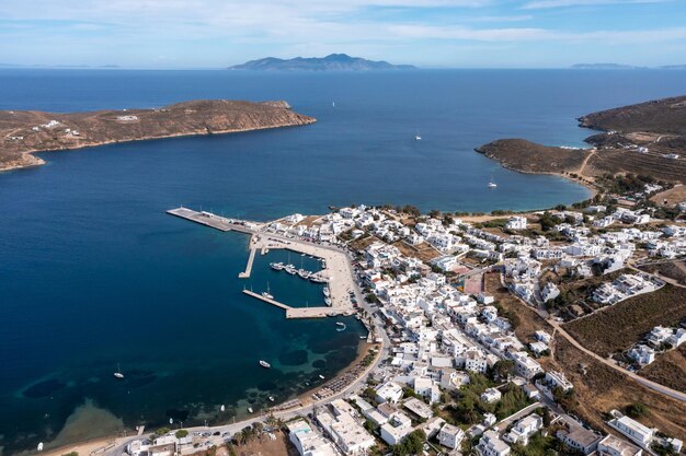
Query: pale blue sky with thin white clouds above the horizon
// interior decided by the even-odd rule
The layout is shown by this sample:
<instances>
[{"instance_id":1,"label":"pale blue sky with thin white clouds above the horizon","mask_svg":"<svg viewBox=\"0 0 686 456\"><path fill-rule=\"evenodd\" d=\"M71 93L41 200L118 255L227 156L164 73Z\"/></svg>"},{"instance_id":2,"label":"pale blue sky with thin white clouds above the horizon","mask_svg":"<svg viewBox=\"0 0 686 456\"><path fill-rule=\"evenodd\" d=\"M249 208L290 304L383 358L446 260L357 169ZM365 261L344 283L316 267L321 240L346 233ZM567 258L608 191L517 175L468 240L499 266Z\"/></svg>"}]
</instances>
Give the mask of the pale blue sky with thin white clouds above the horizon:
<instances>
[{"instance_id":1,"label":"pale blue sky with thin white clouds above the horizon","mask_svg":"<svg viewBox=\"0 0 686 456\"><path fill-rule=\"evenodd\" d=\"M1 0L0 65L225 68L332 52L424 68L686 63L686 0Z\"/></svg>"}]
</instances>

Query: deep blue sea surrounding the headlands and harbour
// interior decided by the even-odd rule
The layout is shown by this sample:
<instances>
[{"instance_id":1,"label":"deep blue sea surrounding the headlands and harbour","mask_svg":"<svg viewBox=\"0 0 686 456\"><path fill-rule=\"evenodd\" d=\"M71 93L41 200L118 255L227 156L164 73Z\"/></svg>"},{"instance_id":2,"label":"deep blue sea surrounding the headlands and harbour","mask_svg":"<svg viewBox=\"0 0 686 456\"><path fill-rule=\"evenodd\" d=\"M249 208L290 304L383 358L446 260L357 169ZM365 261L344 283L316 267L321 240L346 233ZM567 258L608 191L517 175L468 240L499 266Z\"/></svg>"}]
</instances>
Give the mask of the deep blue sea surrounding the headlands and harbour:
<instances>
[{"instance_id":1,"label":"deep blue sea surrounding the headlands and harbour","mask_svg":"<svg viewBox=\"0 0 686 456\"><path fill-rule=\"evenodd\" d=\"M355 358L365 334L355 319L338 332L334 319L286 320L241 293L268 283L293 305L321 300L321 287L268 269L286 253L258 256L253 277L238 279L244 235L165 210L270 220L350 203L570 203L588 191L510 172L473 148L499 138L583 145L592 131L575 117L684 92L679 71L1 70L1 109L286 100L318 122L42 153L47 165L0 174L0 454L170 418L241 418Z\"/></svg>"}]
</instances>

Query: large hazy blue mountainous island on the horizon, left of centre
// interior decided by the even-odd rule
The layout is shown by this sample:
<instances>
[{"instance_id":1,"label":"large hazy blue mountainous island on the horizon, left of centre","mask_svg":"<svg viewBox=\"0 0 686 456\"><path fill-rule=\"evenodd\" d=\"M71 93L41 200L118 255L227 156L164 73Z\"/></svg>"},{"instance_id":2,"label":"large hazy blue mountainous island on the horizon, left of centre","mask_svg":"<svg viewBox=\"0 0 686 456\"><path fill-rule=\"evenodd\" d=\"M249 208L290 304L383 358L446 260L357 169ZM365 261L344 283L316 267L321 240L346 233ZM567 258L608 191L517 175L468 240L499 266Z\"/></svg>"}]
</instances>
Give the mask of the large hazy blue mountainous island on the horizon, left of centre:
<instances>
[{"instance_id":1,"label":"large hazy blue mountainous island on the horizon, left of centre","mask_svg":"<svg viewBox=\"0 0 686 456\"><path fill-rule=\"evenodd\" d=\"M330 54L327 57L296 57L294 59L278 59L266 57L250 60L245 63L229 67L229 70L256 71L380 71L380 70L412 70L411 65L392 65L387 61L374 61L361 57L351 57L346 54Z\"/></svg>"}]
</instances>

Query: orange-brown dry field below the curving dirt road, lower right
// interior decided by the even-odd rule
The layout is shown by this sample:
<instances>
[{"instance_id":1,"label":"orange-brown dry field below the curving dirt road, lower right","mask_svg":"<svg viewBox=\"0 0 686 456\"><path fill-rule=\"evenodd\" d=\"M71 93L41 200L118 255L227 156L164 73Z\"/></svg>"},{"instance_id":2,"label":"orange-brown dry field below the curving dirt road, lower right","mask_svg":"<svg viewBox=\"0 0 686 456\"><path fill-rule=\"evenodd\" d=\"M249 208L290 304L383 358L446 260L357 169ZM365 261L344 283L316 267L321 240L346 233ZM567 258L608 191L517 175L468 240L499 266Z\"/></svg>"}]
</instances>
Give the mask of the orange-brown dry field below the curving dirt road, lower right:
<instances>
[{"instance_id":1,"label":"orange-brown dry field below the curving dirt road, lower right","mask_svg":"<svg viewBox=\"0 0 686 456\"><path fill-rule=\"evenodd\" d=\"M574 384L575 404L569 411L592 426L608 432L604 413L641 401L649 411L639 421L668 435L686 439L686 404L653 391L595 361L560 336L556 337L553 363Z\"/></svg>"}]
</instances>

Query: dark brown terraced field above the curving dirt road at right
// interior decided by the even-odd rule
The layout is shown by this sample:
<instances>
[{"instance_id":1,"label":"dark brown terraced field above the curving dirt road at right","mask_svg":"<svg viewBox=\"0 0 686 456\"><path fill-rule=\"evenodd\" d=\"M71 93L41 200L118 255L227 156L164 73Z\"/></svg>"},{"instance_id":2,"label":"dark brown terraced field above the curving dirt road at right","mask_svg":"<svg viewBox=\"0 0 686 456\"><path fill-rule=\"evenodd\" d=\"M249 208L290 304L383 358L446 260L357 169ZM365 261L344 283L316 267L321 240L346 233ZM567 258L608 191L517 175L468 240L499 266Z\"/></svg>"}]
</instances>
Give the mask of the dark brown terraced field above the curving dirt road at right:
<instances>
[{"instance_id":1,"label":"dark brown terraced field above the curving dirt road at right","mask_svg":"<svg viewBox=\"0 0 686 456\"><path fill-rule=\"evenodd\" d=\"M686 289L666 284L564 325L585 348L601 356L638 342L654 326L674 326L686 317Z\"/></svg>"}]
</instances>

